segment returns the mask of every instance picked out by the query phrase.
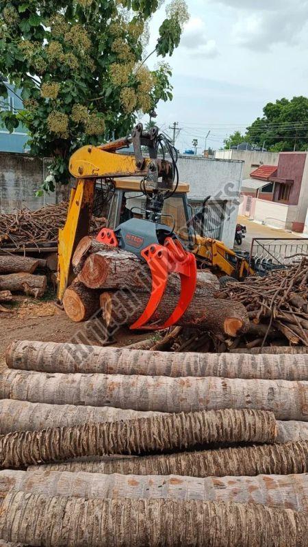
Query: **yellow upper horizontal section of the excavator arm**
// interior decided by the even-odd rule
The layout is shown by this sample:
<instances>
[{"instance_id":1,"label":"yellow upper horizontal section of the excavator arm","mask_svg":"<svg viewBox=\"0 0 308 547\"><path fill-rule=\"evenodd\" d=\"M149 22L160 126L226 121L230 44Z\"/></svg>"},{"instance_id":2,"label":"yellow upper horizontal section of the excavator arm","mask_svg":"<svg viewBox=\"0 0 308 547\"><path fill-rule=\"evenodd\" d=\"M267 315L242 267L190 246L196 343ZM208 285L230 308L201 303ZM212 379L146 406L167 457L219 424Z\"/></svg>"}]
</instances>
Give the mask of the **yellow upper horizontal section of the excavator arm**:
<instances>
[{"instance_id":1,"label":"yellow upper horizontal section of the excavator arm","mask_svg":"<svg viewBox=\"0 0 308 547\"><path fill-rule=\"evenodd\" d=\"M88 145L82 147L70 157L70 174L76 178L85 177L129 177L144 176L150 158L144 160L143 169L136 166L134 155L105 152L98 147Z\"/></svg>"}]
</instances>

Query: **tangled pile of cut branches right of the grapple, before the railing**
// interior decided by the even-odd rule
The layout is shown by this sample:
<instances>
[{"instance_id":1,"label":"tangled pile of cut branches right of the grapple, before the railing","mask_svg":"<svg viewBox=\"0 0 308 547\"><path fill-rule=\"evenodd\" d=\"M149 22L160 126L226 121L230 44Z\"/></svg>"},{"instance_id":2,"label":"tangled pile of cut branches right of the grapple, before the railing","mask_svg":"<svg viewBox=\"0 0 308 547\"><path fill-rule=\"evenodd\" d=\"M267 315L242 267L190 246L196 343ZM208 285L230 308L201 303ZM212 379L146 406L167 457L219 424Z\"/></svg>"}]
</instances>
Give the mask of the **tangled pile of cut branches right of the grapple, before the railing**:
<instances>
[{"instance_id":1,"label":"tangled pile of cut branches right of the grapple, before the railing","mask_svg":"<svg viewBox=\"0 0 308 547\"><path fill-rule=\"evenodd\" d=\"M308 346L308 259L274 270L266 277L249 277L244 283L227 283L220 298L242 303L251 320L249 332L235 346L265 344ZM233 344L233 347L234 347Z\"/></svg>"}]
</instances>

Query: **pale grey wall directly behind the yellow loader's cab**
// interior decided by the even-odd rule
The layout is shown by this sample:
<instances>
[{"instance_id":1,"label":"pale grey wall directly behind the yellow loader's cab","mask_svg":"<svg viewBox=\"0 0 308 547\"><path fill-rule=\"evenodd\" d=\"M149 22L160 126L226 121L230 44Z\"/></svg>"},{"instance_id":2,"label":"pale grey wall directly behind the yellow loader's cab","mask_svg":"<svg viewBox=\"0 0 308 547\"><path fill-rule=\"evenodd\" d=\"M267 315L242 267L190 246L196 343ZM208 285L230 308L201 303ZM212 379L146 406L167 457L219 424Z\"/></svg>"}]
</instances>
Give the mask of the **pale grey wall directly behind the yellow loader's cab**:
<instances>
[{"instance_id":1,"label":"pale grey wall directly behind the yellow loader's cab","mask_svg":"<svg viewBox=\"0 0 308 547\"><path fill-rule=\"evenodd\" d=\"M233 248L243 162L180 156L177 166L179 180L190 184L191 199L202 200L211 195L211 200L227 201L222 241Z\"/></svg>"}]
</instances>

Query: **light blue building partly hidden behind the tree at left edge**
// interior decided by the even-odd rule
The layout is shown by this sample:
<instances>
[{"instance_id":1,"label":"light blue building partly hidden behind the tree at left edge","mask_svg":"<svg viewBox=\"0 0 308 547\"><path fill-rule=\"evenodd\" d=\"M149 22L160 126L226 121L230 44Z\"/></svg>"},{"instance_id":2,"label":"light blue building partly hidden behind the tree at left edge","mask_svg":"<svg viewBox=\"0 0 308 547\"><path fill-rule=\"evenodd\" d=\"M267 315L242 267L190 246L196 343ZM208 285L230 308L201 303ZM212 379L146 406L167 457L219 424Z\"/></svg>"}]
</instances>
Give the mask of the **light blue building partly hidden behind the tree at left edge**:
<instances>
[{"instance_id":1,"label":"light blue building partly hidden behind the tree at left edge","mask_svg":"<svg viewBox=\"0 0 308 547\"><path fill-rule=\"evenodd\" d=\"M8 97L0 97L0 110L18 112L23 109L23 101L20 98L20 90L16 90L7 81ZM0 152L25 152L25 144L29 140L27 131L23 125L18 125L12 133L6 129L0 120Z\"/></svg>"}]
</instances>

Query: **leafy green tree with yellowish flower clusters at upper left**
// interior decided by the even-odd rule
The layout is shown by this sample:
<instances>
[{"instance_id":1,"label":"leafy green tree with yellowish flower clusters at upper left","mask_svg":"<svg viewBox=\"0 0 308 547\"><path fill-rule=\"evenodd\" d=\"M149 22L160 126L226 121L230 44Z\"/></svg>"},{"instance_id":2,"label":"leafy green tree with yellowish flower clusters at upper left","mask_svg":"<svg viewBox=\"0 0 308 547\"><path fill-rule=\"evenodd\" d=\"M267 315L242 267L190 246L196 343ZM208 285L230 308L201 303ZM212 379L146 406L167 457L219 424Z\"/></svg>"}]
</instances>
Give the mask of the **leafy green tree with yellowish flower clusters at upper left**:
<instances>
[{"instance_id":1,"label":"leafy green tree with yellowish flower clusters at upper left","mask_svg":"<svg viewBox=\"0 0 308 547\"><path fill-rule=\"evenodd\" d=\"M146 21L159 0L0 0L0 74L22 90L25 110L1 112L29 131L31 154L53 157L45 190L68 182L68 158L83 144L129 133L140 112L172 99L167 64L143 64ZM179 45L183 0L167 8L155 51ZM6 89L0 82L0 95Z\"/></svg>"}]
</instances>

